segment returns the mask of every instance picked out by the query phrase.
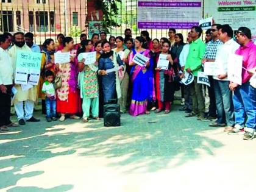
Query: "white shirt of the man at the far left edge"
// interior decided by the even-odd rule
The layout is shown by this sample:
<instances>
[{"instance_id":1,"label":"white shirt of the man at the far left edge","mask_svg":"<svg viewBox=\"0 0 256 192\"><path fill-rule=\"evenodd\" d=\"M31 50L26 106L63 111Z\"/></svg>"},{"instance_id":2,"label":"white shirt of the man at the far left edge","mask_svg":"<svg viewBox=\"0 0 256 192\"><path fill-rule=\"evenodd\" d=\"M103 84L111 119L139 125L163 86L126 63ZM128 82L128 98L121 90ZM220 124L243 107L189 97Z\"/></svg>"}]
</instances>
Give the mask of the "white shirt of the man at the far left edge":
<instances>
[{"instance_id":1,"label":"white shirt of the man at the far left edge","mask_svg":"<svg viewBox=\"0 0 256 192\"><path fill-rule=\"evenodd\" d=\"M12 85L13 68L12 59L8 51L0 48L0 85Z\"/></svg>"}]
</instances>

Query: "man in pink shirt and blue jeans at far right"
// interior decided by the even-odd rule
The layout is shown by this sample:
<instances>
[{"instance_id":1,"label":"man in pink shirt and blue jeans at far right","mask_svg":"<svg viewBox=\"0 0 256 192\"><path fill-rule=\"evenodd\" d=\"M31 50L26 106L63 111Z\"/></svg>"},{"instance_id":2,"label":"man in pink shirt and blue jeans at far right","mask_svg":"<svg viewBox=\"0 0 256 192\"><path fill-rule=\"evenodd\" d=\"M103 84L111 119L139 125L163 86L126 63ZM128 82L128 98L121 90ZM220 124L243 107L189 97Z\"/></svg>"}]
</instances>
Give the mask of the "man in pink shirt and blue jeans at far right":
<instances>
[{"instance_id":1,"label":"man in pink shirt and blue jeans at far right","mask_svg":"<svg viewBox=\"0 0 256 192\"><path fill-rule=\"evenodd\" d=\"M251 40L251 30L240 27L236 32L236 40L241 45L235 54L243 56L242 84L231 82L230 90L234 91L233 104L235 112L235 127L229 133L238 133L244 127L244 140L252 140L256 129L256 91L250 85L251 71L256 67L256 45ZM236 68L236 66L233 66ZM247 116L247 119L246 119Z\"/></svg>"}]
</instances>

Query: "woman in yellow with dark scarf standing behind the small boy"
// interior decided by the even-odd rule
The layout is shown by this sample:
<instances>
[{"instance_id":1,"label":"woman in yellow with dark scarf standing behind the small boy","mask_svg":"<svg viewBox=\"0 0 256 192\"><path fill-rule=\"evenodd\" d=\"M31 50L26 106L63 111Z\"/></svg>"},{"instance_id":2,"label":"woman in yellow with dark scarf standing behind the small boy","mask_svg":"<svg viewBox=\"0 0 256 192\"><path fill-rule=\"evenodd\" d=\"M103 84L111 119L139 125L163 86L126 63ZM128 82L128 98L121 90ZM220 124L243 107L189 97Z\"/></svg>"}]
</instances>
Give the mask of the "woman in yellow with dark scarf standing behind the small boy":
<instances>
[{"instance_id":1,"label":"woman in yellow with dark scarf standing behind the small boy","mask_svg":"<svg viewBox=\"0 0 256 192\"><path fill-rule=\"evenodd\" d=\"M41 98L42 105L42 114L46 114L45 108L45 95L41 92L42 86L45 80L45 71L51 70L55 74L55 65L54 65L54 40L48 38L43 43L42 60L41 60L41 74L39 79L39 84L37 86L38 98Z\"/></svg>"}]
</instances>

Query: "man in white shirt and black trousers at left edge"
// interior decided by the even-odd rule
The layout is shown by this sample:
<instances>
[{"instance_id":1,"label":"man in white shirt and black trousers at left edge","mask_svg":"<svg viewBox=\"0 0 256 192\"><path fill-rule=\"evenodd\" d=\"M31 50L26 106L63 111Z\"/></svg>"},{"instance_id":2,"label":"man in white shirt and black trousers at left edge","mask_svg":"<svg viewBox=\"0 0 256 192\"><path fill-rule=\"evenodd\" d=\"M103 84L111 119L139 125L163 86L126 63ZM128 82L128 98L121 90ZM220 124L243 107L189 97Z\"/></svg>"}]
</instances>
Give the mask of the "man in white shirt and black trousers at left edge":
<instances>
[{"instance_id":1,"label":"man in white shirt and black trousers at left edge","mask_svg":"<svg viewBox=\"0 0 256 192\"><path fill-rule=\"evenodd\" d=\"M0 35L0 130L2 131L8 131L8 127L18 126L18 124L10 121L13 67L7 52L9 46L8 35Z\"/></svg>"}]
</instances>

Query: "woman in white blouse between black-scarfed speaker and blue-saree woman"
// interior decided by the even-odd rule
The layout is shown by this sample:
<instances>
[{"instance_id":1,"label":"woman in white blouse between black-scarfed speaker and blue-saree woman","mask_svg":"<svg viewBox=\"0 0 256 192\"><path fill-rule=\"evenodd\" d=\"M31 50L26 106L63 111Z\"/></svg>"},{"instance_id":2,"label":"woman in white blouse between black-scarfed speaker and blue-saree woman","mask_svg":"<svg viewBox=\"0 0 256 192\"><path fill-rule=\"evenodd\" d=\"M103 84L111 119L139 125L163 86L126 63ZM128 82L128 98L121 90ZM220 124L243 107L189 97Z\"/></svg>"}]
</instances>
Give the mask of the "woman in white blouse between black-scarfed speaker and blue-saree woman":
<instances>
[{"instance_id":1,"label":"woman in white blouse between black-scarfed speaker and blue-saree woman","mask_svg":"<svg viewBox=\"0 0 256 192\"><path fill-rule=\"evenodd\" d=\"M116 48L113 49L121 58L121 60L124 62L124 69L120 69L118 71L119 81L120 81L120 87L121 87L121 98L118 99L118 104L120 105L120 112L126 113L126 107L127 107L127 91L129 87L129 74L127 73L127 68L129 68L128 65L128 55L130 54L129 49L124 49L124 39L123 37L119 36L116 37Z\"/></svg>"}]
</instances>

